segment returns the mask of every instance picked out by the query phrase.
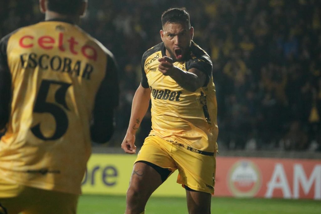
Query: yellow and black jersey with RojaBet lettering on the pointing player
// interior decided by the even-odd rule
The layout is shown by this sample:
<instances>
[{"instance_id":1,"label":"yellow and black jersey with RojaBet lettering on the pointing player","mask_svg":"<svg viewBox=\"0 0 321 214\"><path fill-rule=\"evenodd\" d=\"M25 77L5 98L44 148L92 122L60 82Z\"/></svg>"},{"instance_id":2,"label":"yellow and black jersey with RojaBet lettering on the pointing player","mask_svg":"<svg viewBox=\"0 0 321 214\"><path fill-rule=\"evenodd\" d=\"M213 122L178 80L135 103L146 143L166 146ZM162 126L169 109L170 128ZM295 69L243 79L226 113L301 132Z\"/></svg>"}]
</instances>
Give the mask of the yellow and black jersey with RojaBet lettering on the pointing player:
<instances>
[{"instance_id":1,"label":"yellow and black jersey with RojaBet lettering on the pointing player","mask_svg":"<svg viewBox=\"0 0 321 214\"><path fill-rule=\"evenodd\" d=\"M165 56L164 43L147 50L142 57L142 86L151 89L152 131L163 139L176 142L188 150L214 155L217 150L217 103L212 76L212 61L193 41L190 55L174 66L191 68L206 74L205 85L190 92L159 70L158 58Z\"/></svg>"}]
</instances>

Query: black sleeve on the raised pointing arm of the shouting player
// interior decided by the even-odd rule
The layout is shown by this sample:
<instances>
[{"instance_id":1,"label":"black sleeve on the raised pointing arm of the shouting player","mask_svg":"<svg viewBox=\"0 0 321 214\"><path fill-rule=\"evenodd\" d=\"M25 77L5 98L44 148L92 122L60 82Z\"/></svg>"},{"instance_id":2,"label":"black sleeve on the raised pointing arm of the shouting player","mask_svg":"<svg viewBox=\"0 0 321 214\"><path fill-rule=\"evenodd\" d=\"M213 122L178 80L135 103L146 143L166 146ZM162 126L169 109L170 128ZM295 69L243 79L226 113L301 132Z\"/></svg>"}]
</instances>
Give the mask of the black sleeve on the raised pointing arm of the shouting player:
<instances>
[{"instance_id":1,"label":"black sleeve on the raised pointing arm of the shouting player","mask_svg":"<svg viewBox=\"0 0 321 214\"><path fill-rule=\"evenodd\" d=\"M206 86L210 81L210 78L212 76L213 64L209 56L201 55L199 57L196 57L195 59L188 61L186 68L187 71L191 68L196 68L206 75L206 81L203 87Z\"/></svg>"}]
</instances>

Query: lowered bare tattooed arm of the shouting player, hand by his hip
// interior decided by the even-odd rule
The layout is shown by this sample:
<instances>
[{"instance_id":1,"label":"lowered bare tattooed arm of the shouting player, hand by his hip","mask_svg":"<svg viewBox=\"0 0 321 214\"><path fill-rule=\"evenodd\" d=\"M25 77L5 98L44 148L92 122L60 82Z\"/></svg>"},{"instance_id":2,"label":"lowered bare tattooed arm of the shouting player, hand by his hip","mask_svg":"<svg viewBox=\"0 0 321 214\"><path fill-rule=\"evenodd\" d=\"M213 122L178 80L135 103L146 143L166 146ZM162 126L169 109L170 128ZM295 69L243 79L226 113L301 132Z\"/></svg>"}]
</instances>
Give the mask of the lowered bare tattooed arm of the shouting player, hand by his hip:
<instances>
[{"instance_id":1,"label":"lowered bare tattooed arm of the shouting player, hand by his hip","mask_svg":"<svg viewBox=\"0 0 321 214\"><path fill-rule=\"evenodd\" d=\"M127 133L121 145L126 153L134 154L136 152L136 146L134 145L135 134L147 112L150 99L150 88L143 88L142 84L140 84L134 95Z\"/></svg>"}]
</instances>

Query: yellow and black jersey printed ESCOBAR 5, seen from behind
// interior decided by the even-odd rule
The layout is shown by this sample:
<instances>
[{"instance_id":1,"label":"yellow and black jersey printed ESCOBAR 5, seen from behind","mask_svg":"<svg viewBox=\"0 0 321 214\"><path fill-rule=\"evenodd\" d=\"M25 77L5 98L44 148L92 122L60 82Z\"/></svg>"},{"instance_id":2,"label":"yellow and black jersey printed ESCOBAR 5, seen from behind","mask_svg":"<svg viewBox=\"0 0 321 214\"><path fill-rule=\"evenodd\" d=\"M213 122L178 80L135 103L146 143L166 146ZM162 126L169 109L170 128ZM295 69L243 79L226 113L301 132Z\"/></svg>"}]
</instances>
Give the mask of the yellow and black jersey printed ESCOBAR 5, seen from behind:
<instances>
[{"instance_id":1,"label":"yellow and black jersey printed ESCOBAR 5, seen from behind","mask_svg":"<svg viewBox=\"0 0 321 214\"><path fill-rule=\"evenodd\" d=\"M0 176L80 193L91 139L106 142L118 105L117 65L68 21L23 27L0 42Z\"/></svg>"}]
</instances>

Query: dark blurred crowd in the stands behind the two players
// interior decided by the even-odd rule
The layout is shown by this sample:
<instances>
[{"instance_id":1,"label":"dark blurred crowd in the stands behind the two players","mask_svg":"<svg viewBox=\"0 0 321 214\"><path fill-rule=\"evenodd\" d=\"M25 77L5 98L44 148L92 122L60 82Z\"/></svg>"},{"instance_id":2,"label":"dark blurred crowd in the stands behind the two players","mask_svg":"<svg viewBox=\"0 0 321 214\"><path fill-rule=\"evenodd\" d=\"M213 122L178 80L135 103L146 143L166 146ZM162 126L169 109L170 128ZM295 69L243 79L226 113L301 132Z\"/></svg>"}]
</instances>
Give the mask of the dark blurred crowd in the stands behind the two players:
<instances>
[{"instance_id":1,"label":"dark blurred crowd in the stands behind the two players","mask_svg":"<svg viewBox=\"0 0 321 214\"><path fill-rule=\"evenodd\" d=\"M120 67L120 146L145 50L161 42L161 13L185 7L194 41L212 58L220 149L321 150L321 1L89 0L81 27ZM0 36L44 19L37 0L0 0ZM151 129L150 112L136 145Z\"/></svg>"}]
</instances>

